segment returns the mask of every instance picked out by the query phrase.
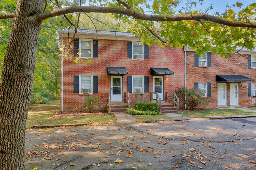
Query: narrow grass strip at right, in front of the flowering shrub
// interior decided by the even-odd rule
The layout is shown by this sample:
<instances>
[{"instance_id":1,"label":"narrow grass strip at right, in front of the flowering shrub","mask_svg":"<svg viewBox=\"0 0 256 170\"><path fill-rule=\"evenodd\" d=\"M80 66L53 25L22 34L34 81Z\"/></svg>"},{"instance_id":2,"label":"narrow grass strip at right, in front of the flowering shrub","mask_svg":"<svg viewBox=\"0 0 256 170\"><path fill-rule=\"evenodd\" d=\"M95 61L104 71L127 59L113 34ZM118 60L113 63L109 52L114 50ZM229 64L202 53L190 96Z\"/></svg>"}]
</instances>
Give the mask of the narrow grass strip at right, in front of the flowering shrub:
<instances>
[{"instance_id":1,"label":"narrow grass strip at right, in front of the flowering shrub","mask_svg":"<svg viewBox=\"0 0 256 170\"><path fill-rule=\"evenodd\" d=\"M179 113L181 116L189 118L209 118L209 116L238 116L255 114L255 112L249 112L238 109L219 109L219 110L204 110L204 111L182 111Z\"/></svg>"}]
</instances>

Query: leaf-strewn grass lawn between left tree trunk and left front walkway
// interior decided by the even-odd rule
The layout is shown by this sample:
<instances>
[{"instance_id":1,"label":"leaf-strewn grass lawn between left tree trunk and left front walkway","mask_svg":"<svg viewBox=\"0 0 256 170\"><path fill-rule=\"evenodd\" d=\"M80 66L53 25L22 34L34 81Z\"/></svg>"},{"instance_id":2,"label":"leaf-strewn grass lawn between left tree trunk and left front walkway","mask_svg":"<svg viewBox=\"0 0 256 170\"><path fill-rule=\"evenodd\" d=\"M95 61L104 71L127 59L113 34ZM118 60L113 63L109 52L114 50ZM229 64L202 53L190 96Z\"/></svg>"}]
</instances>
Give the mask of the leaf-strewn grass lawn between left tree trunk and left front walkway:
<instances>
[{"instance_id":1,"label":"leaf-strewn grass lawn between left tree trunk and left front walkway","mask_svg":"<svg viewBox=\"0 0 256 170\"><path fill-rule=\"evenodd\" d=\"M26 128L33 125L61 125L74 123L90 123L91 125L110 125L117 123L112 114L90 116L52 117L59 111L60 101L51 101L49 104L30 106Z\"/></svg>"}]
</instances>

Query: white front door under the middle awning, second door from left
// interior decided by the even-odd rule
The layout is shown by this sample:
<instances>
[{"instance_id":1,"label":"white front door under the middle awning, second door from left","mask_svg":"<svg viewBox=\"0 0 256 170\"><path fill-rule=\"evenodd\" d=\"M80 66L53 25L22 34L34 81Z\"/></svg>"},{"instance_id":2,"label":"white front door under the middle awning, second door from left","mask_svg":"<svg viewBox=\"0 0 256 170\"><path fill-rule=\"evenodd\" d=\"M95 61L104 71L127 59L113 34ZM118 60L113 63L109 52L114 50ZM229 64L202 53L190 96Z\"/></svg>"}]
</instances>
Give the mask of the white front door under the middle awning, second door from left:
<instances>
[{"instance_id":1,"label":"white front door under the middle awning, second door from left","mask_svg":"<svg viewBox=\"0 0 256 170\"><path fill-rule=\"evenodd\" d=\"M163 76L153 76L153 92L158 92L163 100ZM156 99L156 94L153 94L153 99Z\"/></svg>"}]
</instances>

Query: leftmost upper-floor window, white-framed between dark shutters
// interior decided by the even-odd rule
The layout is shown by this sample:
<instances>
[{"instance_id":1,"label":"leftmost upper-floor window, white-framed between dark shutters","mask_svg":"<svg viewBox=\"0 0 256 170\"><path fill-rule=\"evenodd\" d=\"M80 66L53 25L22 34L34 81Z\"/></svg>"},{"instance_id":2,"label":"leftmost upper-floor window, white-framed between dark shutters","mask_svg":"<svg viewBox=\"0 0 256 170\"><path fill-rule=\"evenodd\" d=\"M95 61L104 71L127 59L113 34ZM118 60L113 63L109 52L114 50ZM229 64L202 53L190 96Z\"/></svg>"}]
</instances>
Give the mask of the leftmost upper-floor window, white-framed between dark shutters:
<instances>
[{"instance_id":1,"label":"leftmost upper-floor window, white-framed between dark shutters","mask_svg":"<svg viewBox=\"0 0 256 170\"><path fill-rule=\"evenodd\" d=\"M79 39L79 49L81 49L79 57L92 58L93 57L93 40Z\"/></svg>"}]
</instances>

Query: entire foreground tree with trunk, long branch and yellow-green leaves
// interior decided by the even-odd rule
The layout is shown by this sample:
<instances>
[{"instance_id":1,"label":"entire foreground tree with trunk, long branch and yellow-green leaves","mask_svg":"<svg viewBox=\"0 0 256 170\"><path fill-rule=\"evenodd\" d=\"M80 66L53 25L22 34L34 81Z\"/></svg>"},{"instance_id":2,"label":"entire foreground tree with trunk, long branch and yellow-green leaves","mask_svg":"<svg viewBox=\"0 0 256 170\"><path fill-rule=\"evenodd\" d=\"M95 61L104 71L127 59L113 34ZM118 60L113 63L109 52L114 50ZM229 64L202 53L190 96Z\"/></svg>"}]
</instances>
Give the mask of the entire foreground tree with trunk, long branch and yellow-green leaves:
<instances>
[{"instance_id":1,"label":"entire foreground tree with trunk, long branch and yellow-green leaves","mask_svg":"<svg viewBox=\"0 0 256 170\"><path fill-rule=\"evenodd\" d=\"M81 1L50 2L18 0L15 13L0 14L0 19L13 18L0 83L0 169L24 169L25 123L37 43L44 20L67 14L65 18L76 30L78 25L72 22L70 13L77 12L78 18L80 13L113 13L122 22L133 24L128 32L141 37L143 43L150 45L155 40L174 47L189 45L199 54L215 45L211 51L226 56L237 46L252 49L255 41L255 18L250 20L249 17L256 13L256 4L239 13L228 9L224 14L213 16L206 14L207 11L176 13L173 10L178 4L176 0L154 0L153 3L147 0L91 0L87 7L82 6ZM69 4L80 6L61 8ZM145 8L152 14L145 14ZM155 22L159 24L157 29ZM235 47L230 45L232 43Z\"/></svg>"}]
</instances>

